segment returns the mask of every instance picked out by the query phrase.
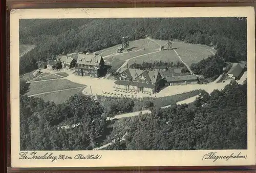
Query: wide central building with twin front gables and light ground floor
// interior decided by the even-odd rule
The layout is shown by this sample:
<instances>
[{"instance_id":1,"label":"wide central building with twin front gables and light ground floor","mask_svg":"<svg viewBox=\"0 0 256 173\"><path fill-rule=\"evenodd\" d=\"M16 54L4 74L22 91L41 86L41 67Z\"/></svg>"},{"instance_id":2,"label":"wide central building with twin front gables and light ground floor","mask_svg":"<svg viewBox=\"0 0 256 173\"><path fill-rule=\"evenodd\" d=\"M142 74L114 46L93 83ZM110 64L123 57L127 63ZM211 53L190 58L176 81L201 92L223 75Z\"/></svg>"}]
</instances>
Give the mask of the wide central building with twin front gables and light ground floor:
<instances>
[{"instance_id":1,"label":"wide central building with twin front gables and light ground floor","mask_svg":"<svg viewBox=\"0 0 256 173\"><path fill-rule=\"evenodd\" d=\"M125 91L156 93L160 90L161 75L158 70L125 69L115 81L115 88Z\"/></svg>"}]
</instances>

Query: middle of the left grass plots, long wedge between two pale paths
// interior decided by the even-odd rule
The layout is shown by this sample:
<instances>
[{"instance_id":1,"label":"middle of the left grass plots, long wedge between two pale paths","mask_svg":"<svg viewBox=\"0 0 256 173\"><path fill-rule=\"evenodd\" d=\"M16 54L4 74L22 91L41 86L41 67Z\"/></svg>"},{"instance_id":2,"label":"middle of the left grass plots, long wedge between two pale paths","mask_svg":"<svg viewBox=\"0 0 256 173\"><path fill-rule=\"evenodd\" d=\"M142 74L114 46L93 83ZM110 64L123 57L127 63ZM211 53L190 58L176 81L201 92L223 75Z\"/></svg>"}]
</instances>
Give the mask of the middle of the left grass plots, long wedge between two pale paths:
<instances>
[{"instance_id":1,"label":"middle of the left grass plots, long wedge between two pale paths","mask_svg":"<svg viewBox=\"0 0 256 173\"><path fill-rule=\"evenodd\" d=\"M30 96L39 93L72 89L83 86L86 87L86 85L74 83L67 79L33 82L29 85L29 91L27 92L27 95Z\"/></svg>"}]
</instances>

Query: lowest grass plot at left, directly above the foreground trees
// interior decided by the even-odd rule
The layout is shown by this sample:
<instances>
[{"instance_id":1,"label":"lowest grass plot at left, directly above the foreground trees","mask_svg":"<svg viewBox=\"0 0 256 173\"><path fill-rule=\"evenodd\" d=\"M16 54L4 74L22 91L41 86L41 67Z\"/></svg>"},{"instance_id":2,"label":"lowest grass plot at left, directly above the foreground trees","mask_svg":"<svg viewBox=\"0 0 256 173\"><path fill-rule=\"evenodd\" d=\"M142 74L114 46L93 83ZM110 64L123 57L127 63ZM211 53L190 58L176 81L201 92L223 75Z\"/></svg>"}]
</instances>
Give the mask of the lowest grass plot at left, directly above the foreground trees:
<instances>
[{"instance_id":1,"label":"lowest grass plot at left, directly above the foreground trees","mask_svg":"<svg viewBox=\"0 0 256 173\"><path fill-rule=\"evenodd\" d=\"M50 93L50 94L42 94L35 97L39 97L44 99L45 101L51 101L51 102L54 102L55 104L59 104L59 103L65 102L67 99L69 99L71 96L75 94L81 94L82 90L83 88L79 88L79 89L73 89L68 91L59 91L59 92Z\"/></svg>"}]
</instances>

